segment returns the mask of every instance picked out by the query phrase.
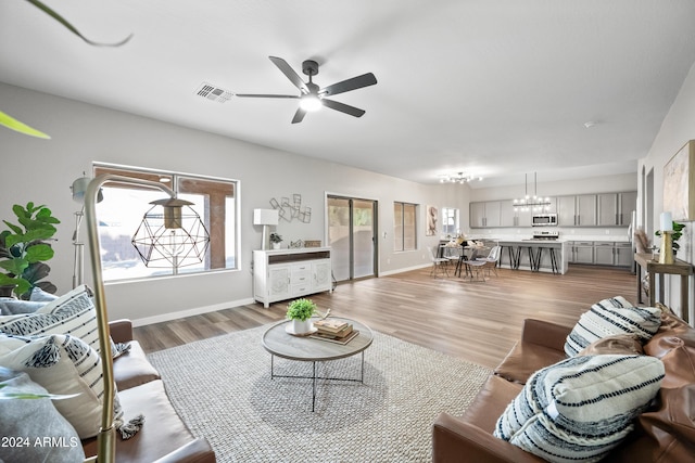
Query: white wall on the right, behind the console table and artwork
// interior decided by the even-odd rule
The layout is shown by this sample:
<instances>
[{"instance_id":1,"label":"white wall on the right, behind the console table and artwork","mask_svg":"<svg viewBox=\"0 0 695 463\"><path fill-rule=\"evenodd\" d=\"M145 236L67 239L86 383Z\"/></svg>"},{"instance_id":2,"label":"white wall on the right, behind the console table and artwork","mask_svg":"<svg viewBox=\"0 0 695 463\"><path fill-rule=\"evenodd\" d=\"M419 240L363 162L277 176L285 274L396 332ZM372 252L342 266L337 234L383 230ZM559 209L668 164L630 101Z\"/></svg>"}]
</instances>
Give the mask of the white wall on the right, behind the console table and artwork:
<instances>
[{"instance_id":1,"label":"white wall on the right, behind the console table and artwork","mask_svg":"<svg viewBox=\"0 0 695 463\"><path fill-rule=\"evenodd\" d=\"M654 210L652 210L652 219L659 228L659 216L664 211L664 166L668 160L688 141L695 139L695 66L685 78L681 91L675 101L671 105L668 115L661 124L661 128L648 155L640 160L640 169L645 173L654 172ZM693 173L691 173L692 176ZM691 188L693 185L691 184ZM644 185L640 184L640 197L644 200ZM647 211L648 214L649 211ZM695 246L693 228L695 222L685 223L683 236L679 240L681 249L678 258L687 262L695 262ZM658 244L658 237L650 236ZM680 278L669 279L669 292L667 294L666 304L680 311ZM690 279L690 320L693 324L693 278Z\"/></svg>"}]
</instances>

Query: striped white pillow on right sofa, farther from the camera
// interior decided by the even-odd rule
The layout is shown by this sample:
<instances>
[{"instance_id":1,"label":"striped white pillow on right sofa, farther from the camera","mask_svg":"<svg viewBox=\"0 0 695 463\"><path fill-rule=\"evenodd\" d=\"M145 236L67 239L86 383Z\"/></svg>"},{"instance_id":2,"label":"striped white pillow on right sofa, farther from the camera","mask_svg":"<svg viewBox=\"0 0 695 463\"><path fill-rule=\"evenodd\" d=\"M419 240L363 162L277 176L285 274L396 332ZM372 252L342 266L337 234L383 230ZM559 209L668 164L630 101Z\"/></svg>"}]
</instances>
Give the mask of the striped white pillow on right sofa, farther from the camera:
<instances>
[{"instance_id":1,"label":"striped white pillow on right sofa, farther from the camera","mask_svg":"<svg viewBox=\"0 0 695 463\"><path fill-rule=\"evenodd\" d=\"M591 343L616 334L634 333L648 340L660 324L661 310L656 307L633 307L621 296L604 299L579 318L567 336L565 353L574 357Z\"/></svg>"}]
</instances>

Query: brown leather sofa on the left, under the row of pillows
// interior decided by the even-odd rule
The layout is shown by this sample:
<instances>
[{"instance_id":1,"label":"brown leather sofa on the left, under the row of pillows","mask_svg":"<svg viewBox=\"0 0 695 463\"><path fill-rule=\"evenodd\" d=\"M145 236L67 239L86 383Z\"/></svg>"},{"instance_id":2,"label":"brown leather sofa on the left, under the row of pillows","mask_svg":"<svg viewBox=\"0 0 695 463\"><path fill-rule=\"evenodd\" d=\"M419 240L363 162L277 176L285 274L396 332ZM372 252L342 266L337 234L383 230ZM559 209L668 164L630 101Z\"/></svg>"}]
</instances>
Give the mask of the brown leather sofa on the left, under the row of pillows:
<instances>
[{"instance_id":1,"label":"brown leather sofa on the left, under the row of pillows","mask_svg":"<svg viewBox=\"0 0 695 463\"><path fill-rule=\"evenodd\" d=\"M116 436L116 462L214 463L215 452L205 438L195 438L178 416L164 390L160 374L132 339L129 320L110 323L116 343L130 343L130 350L114 359L118 398L130 419L144 415L142 429L128 440ZM97 438L83 440L87 456L97 454Z\"/></svg>"}]
</instances>

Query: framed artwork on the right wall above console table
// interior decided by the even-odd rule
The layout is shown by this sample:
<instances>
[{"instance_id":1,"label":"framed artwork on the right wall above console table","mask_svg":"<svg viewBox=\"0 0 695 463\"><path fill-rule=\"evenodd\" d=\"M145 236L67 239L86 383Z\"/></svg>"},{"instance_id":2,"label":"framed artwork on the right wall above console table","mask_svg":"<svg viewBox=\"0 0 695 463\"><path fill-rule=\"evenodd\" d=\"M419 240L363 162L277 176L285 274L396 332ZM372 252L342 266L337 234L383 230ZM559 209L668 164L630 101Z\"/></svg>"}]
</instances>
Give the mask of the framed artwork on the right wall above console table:
<instances>
[{"instance_id":1,"label":"framed artwork on the right wall above console table","mask_svg":"<svg viewBox=\"0 0 695 463\"><path fill-rule=\"evenodd\" d=\"M664 210L675 221L695 220L695 140L664 166Z\"/></svg>"}]
</instances>

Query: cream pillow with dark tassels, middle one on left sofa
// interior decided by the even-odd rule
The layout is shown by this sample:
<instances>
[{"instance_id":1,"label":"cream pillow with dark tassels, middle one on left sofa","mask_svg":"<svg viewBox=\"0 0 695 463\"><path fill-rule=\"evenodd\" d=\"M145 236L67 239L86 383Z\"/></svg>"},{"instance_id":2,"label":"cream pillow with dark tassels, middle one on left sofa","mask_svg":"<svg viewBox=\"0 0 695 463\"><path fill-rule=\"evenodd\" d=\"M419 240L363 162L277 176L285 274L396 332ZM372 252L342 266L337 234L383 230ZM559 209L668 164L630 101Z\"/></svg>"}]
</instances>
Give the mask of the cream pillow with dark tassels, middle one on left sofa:
<instances>
[{"instance_id":1,"label":"cream pillow with dark tassels, middle one on left sofa","mask_svg":"<svg viewBox=\"0 0 695 463\"><path fill-rule=\"evenodd\" d=\"M81 339L62 334L0 335L0 364L27 373L50 394L77 395L55 400L55 408L81 439L99 433L104 394L101 358ZM114 419L123 424L117 400Z\"/></svg>"}]
</instances>

